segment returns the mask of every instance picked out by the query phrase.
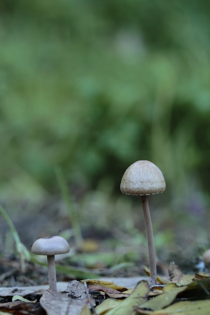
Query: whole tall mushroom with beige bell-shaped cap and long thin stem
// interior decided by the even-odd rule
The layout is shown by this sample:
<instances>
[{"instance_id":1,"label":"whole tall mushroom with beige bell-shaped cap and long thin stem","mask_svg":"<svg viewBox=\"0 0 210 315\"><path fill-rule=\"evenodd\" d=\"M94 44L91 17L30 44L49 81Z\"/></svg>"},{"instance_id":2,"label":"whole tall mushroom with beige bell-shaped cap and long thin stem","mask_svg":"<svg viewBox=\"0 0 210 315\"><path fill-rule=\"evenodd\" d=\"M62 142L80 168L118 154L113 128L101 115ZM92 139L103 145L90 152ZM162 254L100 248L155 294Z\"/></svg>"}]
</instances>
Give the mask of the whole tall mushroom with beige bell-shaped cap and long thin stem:
<instances>
[{"instance_id":1,"label":"whole tall mushroom with beige bell-shaped cap and long thin stem","mask_svg":"<svg viewBox=\"0 0 210 315\"><path fill-rule=\"evenodd\" d=\"M131 164L122 176L120 190L126 195L142 197L142 207L148 240L150 285L157 284L157 267L155 260L155 246L153 226L147 195L159 194L166 189L165 179L161 170L150 161L137 161Z\"/></svg>"}]
</instances>

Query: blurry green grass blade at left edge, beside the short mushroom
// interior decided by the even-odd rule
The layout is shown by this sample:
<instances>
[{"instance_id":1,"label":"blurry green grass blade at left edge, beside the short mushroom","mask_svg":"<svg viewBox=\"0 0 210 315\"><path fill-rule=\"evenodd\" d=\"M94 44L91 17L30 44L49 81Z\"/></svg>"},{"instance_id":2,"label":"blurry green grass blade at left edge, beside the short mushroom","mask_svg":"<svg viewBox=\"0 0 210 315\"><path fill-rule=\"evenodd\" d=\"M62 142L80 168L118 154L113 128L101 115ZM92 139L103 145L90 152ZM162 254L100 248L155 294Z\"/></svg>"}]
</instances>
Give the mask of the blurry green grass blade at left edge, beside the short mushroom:
<instances>
[{"instance_id":1,"label":"blurry green grass blade at left edge, beside the short mushroom","mask_svg":"<svg viewBox=\"0 0 210 315\"><path fill-rule=\"evenodd\" d=\"M15 240L17 253L20 256L21 271L24 272L25 271L25 261L30 260L31 255L30 255L29 251L27 250L27 248L25 247L25 245L21 242L21 240L19 238L19 234L15 228L15 225L13 224L11 218L9 217L9 215L7 214L7 212L5 211L5 209L2 206L0 206L0 213L2 214L2 216L4 217L4 219L6 220L6 222L8 223L8 225L10 227L13 238Z\"/></svg>"}]
</instances>

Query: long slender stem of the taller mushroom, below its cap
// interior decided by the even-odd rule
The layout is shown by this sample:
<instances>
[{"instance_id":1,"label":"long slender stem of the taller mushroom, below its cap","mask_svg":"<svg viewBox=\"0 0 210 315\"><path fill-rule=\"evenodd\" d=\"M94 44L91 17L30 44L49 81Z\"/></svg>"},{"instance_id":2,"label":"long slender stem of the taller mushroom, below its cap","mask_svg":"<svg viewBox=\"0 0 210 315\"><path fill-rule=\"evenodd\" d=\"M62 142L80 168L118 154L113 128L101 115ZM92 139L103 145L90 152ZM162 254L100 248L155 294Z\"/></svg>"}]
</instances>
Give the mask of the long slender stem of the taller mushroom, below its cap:
<instances>
[{"instance_id":1,"label":"long slender stem of the taller mushroom, below its cap","mask_svg":"<svg viewBox=\"0 0 210 315\"><path fill-rule=\"evenodd\" d=\"M149 252L149 264L150 264L150 286L157 284L157 268L155 260L155 245L153 237L153 226L150 216L150 209L148 204L148 198L146 195L142 197L142 207L145 216L145 226L148 240L148 252Z\"/></svg>"}]
</instances>

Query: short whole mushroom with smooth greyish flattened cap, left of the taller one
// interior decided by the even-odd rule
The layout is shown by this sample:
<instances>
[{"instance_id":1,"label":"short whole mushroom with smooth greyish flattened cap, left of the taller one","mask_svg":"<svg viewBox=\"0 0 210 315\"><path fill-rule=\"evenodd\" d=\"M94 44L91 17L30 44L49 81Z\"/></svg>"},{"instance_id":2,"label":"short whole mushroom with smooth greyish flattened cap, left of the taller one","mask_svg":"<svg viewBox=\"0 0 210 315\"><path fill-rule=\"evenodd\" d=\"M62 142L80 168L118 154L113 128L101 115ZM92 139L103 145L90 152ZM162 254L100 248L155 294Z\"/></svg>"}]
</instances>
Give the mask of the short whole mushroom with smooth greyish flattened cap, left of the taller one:
<instances>
[{"instance_id":1,"label":"short whole mushroom with smooth greyish flattened cap, left of the taller one","mask_svg":"<svg viewBox=\"0 0 210 315\"><path fill-rule=\"evenodd\" d=\"M67 241L59 236L38 239L32 245L31 251L37 255L47 255L49 288L57 292L55 256L69 252Z\"/></svg>"}]
</instances>

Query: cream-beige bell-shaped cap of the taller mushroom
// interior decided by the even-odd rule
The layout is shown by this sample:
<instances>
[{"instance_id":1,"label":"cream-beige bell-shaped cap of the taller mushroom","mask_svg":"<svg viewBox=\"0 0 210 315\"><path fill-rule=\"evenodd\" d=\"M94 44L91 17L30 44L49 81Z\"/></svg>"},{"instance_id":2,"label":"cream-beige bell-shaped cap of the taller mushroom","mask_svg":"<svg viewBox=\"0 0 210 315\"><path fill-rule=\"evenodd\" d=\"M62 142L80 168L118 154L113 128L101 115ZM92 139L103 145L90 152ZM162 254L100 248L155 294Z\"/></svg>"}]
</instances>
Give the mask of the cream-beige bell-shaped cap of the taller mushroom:
<instances>
[{"instance_id":1,"label":"cream-beige bell-shaped cap of the taller mushroom","mask_svg":"<svg viewBox=\"0 0 210 315\"><path fill-rule=\"evenodd\" d=\"M120 190L125 195L153 195L164 192L165 179L161 170L150 161L137 161L122 176Z\"/></svg>"}]
</instances>

